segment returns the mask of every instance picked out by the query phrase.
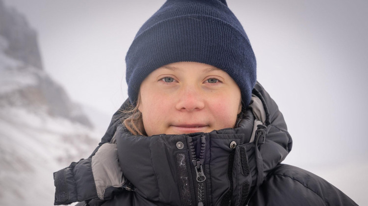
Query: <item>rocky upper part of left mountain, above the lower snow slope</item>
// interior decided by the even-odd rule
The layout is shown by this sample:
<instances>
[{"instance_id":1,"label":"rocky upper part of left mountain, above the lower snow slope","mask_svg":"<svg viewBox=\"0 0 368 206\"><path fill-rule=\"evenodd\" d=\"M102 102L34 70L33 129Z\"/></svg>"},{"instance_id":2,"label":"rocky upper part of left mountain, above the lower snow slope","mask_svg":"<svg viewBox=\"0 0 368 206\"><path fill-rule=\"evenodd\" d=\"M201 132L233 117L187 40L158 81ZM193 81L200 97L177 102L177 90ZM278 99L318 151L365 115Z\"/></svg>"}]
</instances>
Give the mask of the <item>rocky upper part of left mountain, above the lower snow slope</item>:
<instances>
[{"instance_id":1,"label":"rocky upper part of left mountain, above the lower snow slope","mask_svg":"<svg viewBox=\"0 0 368 206\"><path fill-rule=\"evenodd\" d=\"M0 106L26 106L92 127L80 106L43 70L36 31L1 0L0 55Z\"/></svg>"}]
</instances>

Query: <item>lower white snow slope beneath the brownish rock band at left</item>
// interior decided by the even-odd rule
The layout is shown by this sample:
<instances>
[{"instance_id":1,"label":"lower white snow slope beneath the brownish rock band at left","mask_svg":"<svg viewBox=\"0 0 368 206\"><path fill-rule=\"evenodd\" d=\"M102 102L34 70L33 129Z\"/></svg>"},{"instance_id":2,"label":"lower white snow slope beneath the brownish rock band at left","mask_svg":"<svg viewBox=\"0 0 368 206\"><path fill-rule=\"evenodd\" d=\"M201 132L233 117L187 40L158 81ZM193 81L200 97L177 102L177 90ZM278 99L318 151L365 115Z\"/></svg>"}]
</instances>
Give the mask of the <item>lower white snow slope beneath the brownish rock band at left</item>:
<instances>
[{"instance_id":1,"label":"lower white snow slope beneath the brownish rock band at left","mask_svg":"<svg viewBox=\"0 0 368 206\"><path fill-rule=\"evenodd\" d=\"M53 172L88 157L100 136L62 118L0 108L0 203L52 205Z\"/></svg>"}]
</instances>

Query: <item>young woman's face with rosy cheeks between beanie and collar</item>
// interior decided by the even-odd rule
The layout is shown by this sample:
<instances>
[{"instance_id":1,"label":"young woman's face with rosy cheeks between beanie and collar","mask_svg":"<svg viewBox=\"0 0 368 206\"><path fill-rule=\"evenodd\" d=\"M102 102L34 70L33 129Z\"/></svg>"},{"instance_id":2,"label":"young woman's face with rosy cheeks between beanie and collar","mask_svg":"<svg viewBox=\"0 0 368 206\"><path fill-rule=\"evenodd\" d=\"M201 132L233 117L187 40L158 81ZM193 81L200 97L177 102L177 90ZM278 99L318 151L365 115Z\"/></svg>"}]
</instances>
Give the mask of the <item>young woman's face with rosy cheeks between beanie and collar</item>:
<instances>
[{"instance_id":1,"label":"young woman's face with rosy cheeks between beanie and collar","mask_svg":"<svg viewBox=\"0 0 368 206\"><path fill-rule=\"evenodd\" d=\"M237 83L216 67L176 62L144 79L138 109L148 136L210 132L234 128L241 94Z\"/></svg>"}]
</instances>

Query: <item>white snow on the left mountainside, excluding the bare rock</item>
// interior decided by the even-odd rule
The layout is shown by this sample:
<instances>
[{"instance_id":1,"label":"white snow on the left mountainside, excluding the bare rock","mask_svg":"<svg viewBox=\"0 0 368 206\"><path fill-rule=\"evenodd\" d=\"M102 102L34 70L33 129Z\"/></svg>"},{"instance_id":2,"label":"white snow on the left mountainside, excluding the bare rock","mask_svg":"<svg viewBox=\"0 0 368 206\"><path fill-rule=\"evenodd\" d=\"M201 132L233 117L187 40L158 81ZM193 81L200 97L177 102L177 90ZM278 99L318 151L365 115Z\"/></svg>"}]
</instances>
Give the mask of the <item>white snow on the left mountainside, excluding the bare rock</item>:
<instances>
[{"instance_id":1,"label":"white snow on the left mountainside, excluding the bare rock","mask_svg":"<svg viewBox=\"0 0 368 206\"><path fill-rule=\"evenodd\" d=\"M27 100L22 92L38 89L44 79L53 80L45 71L8 56L7 47L0 36L0 206L50 206L53 172L87 158L103 132L51 116L45 108L50 105L23 103ZM73 106L83 113L78 104Z\"/></svg>"}]
</instances>

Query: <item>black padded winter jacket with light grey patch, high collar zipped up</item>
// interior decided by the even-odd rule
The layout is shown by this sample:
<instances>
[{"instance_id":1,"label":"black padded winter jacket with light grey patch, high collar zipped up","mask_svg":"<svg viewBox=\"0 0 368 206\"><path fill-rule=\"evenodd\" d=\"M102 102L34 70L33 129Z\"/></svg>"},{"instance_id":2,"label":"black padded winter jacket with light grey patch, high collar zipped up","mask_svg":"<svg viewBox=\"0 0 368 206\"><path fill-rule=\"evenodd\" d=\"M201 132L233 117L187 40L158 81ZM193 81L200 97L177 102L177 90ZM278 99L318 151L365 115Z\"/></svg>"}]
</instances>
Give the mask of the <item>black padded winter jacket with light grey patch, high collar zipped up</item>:
<instances>
[{"instance_id":1,"label":"black padded winter jacket with light grey patch, high collar zipped up","mask_svg":"<svg viewBox=\"0 0 368 206\"><path fill-rule=\"evenodd\" d=\"M146 137L127 132L118 111L89 158L54 173L55 205L356 205L327 181L281 164L291 137L259 83L244 113L235 129Z\"/></svg>"}]
</instances>

